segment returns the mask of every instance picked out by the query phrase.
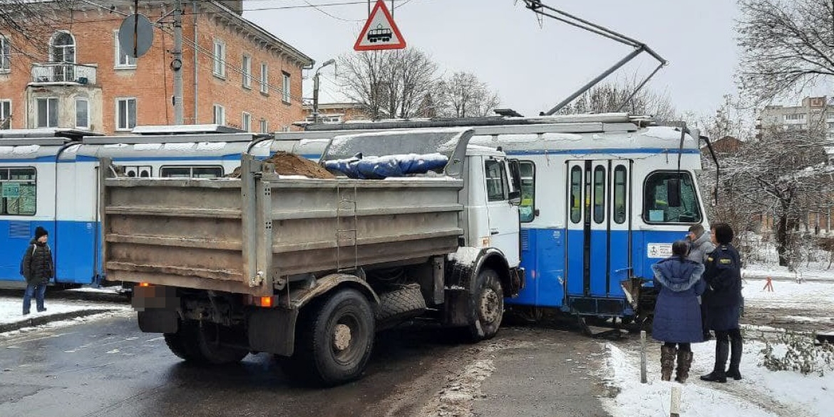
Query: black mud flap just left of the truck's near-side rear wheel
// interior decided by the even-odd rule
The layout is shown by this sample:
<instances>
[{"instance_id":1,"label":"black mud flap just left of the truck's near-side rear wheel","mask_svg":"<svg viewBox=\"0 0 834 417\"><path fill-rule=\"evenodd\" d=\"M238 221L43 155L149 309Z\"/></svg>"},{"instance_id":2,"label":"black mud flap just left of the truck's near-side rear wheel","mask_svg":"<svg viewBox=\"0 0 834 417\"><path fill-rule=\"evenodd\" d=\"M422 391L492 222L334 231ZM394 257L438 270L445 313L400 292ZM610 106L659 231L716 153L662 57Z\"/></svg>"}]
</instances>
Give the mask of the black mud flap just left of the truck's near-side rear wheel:
<instances>
[{"instance_id":1,"label":"black mud flap just left of the truck's near-side rear wheel","mask_svg":"<svg viewBox=\"0 0 834 417\"><path fill-rule=\"evenodd\" d=\"M292 356L298 309L257 309L249 315L249 347L259 352Z\"/></svg>"}]
</instances>

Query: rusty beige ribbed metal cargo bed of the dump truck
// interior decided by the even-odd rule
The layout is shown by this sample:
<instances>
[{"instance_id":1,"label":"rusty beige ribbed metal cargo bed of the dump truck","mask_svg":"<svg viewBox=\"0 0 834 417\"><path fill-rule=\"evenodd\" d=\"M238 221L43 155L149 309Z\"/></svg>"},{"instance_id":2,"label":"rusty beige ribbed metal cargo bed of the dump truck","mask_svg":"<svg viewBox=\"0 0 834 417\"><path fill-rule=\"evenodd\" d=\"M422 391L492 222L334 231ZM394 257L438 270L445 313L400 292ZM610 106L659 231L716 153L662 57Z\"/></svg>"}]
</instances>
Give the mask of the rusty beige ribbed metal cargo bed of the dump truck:
<instances>
[{"instance_id":1,"label":"rusty beige ribbed metal cargo bed of the dump truck","mask_svg":"<svg viewBox=\"0 0 834 417\"><path fill-rule=\"evenodd\" d=\"M454 253L454 178L108 178L107 279L269 295L294 274Z\"/></svg>"}]
</instances>

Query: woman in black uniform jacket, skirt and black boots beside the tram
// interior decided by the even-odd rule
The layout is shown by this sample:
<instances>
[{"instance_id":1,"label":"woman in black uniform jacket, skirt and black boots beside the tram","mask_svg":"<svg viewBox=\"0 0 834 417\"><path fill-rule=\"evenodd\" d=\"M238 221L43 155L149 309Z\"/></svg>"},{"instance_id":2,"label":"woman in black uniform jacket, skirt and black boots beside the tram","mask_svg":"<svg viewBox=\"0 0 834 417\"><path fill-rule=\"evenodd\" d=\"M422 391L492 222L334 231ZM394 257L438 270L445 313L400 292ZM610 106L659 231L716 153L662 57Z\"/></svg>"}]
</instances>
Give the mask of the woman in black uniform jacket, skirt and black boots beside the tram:
<instances>
[{"instance_id":1,"label":"woman in black uniform jacket, skirt and black boots beside the tram","mask_svg":"<svg viewBox=\"0 0 834 417\"><path fill-rule=\"evenodd\" d=\"M729 224L712 225L712 239L716 250L706 258L704 279L706 291L702 301L706 305L706 322L716 332L716 364L710 374L701 379L726 382L727 377L741 379L741 330L738 319L741 310L741 259L730 244L733 231ZM729 339L729 340L728 340ZM724 366L730 356L730 368Z\"/></svg>"}]
</instances>

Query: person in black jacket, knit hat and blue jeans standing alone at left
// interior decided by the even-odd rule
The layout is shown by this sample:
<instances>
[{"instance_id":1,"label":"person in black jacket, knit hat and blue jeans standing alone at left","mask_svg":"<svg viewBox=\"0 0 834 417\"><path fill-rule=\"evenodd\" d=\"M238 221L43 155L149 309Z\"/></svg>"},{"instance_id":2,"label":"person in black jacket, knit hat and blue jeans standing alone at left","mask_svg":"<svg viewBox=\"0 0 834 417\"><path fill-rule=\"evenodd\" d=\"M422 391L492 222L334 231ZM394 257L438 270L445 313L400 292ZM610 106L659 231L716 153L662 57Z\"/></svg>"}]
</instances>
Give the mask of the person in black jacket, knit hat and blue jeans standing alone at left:
<instances>
[{"instance_id":1,"label":"person in black jacket, knit hat and blue jeans standing alone at left","mask_svg":"<svg viewBox=\"0 0 834 417\"><path fill-rule=\"evenodd\" d=\"M47 291L49 279L55 276L55 266L52 250L47 240L49 234L46 229L38 226L35 229L35 239L29 242L29 248L23 255L23 277L26 278L26 293L23 294L23 315L29 314L32 307L32 296L35 296L38 313L46 311L43 298Z\"/></svg>"}]
</instances>

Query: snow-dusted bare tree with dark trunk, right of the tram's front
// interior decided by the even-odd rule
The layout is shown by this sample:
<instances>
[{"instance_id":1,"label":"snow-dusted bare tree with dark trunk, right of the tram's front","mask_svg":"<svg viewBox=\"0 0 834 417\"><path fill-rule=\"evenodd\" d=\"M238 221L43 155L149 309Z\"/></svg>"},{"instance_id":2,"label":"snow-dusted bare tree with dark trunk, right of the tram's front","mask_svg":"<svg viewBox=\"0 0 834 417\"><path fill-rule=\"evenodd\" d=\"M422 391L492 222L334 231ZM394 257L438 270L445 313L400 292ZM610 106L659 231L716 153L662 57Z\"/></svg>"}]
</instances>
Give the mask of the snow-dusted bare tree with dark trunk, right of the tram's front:
<instances>
[{"instance_id":1,"label":"snow-dusted bare tree with dark trunk, right of the tram's front","mask_svg":"<svg viewBox=\"0 0 834 417\"><path fill-rule=\"evenodd\" d=\"M721 159L719 219L748 228L752 214L772 215L782 266L796 258L794 230L831 193L824 143L821 132L771 129Z\"/></svg>"}]
</instances>

